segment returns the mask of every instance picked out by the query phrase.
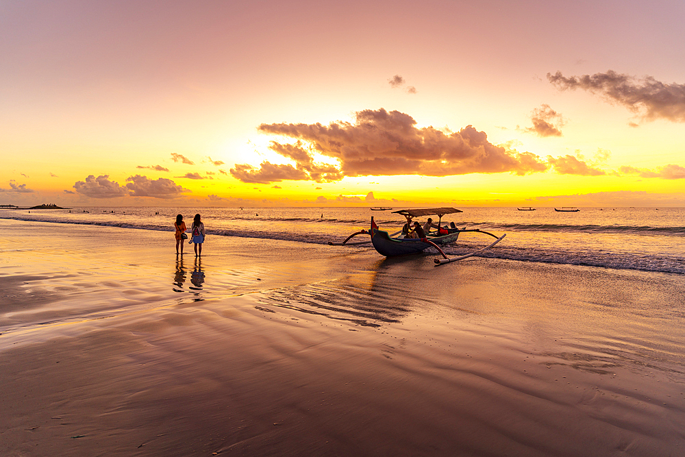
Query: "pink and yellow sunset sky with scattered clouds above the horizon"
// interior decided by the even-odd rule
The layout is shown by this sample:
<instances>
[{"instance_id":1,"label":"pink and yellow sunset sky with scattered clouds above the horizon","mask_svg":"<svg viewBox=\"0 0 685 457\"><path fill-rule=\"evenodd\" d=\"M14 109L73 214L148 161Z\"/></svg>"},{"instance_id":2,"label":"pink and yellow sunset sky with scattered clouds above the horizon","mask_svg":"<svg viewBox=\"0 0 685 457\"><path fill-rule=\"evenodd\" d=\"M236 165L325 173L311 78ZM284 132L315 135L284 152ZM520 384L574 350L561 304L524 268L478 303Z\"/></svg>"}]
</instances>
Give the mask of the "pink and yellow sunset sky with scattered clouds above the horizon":
<instances>
[{"instance_id":1,"label":"pink and yellow sunset sky with scattered clouds above the horizon","mask_svg":"<svg viewBox=\"0 0 685 457\"><path fill-rule=\"evenodd\" d=\"M0 0L0 204L685 207L684 19Z\"/></svg>"}]
</instances>

